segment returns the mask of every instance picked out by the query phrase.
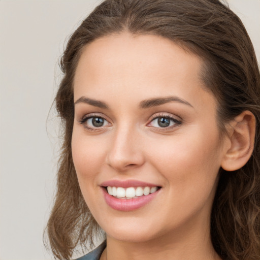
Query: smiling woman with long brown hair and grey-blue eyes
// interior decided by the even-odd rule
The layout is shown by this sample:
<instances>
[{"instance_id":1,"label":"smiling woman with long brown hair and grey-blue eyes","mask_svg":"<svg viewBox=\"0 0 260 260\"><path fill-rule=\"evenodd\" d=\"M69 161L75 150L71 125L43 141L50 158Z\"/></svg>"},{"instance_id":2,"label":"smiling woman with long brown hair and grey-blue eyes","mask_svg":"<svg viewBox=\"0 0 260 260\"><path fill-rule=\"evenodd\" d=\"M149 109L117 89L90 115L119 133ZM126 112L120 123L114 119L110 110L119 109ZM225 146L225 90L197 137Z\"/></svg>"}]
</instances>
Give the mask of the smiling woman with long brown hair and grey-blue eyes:
<instances>
[{"instance_id":1,"label":"smiling woman with long brown hair and grey-blue eyes","mask_svg":"<svg viewBox=\"0 0 260 260\"><path fill-rule=\"evenodd\" d=\"M58 259L259 259L260 76L217 0L107 0L71 36L47 230Z\"/></svg>"}]
</instances>

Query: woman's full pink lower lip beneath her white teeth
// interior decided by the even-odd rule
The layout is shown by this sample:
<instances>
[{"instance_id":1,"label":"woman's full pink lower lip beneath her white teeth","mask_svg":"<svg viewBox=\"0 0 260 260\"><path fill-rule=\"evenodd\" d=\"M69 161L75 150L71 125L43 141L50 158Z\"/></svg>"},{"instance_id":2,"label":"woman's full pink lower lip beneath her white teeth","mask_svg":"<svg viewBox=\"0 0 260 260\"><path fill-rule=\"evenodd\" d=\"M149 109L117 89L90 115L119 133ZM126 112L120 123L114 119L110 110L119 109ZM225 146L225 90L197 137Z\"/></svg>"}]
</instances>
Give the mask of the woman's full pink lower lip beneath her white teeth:
<instances>
[{"instance_id":1,"label":"woman's full pink lower lip beneath her white teeth","mask_svg":"<svg viewBox=\"0 0 260 260\"><path fill-rule=\"evenodd\" d=\"M112 209L119 210L119 211L131 211L131 210L136 210L139 209L146 204L148 204L152 199L155 198L157 195L158 191L155 191L153 193L150 193L146 196L141 196L136 199L117 199L111 195L108 194L106 191L106 188L102 188L105 201L110 206Z\"/></svg>"}]
</instances>

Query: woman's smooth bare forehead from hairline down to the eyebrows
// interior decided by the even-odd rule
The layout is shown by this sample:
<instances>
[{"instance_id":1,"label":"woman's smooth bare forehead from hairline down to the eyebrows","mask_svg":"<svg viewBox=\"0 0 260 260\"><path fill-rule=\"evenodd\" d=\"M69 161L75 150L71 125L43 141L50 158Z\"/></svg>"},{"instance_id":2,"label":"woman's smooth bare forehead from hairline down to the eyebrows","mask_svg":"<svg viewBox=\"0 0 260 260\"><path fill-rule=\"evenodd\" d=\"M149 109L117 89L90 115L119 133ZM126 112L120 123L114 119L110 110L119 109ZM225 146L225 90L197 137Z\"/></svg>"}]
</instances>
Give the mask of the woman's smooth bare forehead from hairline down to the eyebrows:
<instances>
[{"instance_id":1,"label":"woman's smooth bare forehead from hairline down to the eyebrows","mask_svg":"<svg viewBox=\"0 0 260 260\"><path fill-rule=\"evenodd\" d=\"M194 94L201 99L206 92L202 64L199 56L160 36L128 32L106 36L85 46L76 69L74 99L82 95L99 100L158 95L190 99Z\"/></svg>"}]
</instances>

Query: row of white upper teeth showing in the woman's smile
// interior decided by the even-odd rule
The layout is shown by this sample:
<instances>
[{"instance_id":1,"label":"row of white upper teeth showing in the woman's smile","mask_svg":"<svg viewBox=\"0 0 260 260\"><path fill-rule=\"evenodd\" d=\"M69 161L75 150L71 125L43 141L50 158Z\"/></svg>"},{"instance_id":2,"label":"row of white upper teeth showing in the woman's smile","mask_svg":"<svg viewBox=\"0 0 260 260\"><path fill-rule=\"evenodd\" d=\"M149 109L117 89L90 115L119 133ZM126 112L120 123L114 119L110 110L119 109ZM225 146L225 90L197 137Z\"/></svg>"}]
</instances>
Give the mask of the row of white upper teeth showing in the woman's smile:
<instances>
[{"instance_id":1,"label":"row of white upper teeth showing in the woman's smile","mask_svg":"<svg viewBox=\"0 0 260 260\"><path fill-rule=\"evenodd\" d=\"M140 197L143 195L148 195L150 193L153 193L157 190L157 187L128 187L128 188L122 188L122 187L112 187L107 186L107 190L109 195L112 195L117 198L126 198L126 199L132 199L135 197Z\"/></svg>"}]
</instances>

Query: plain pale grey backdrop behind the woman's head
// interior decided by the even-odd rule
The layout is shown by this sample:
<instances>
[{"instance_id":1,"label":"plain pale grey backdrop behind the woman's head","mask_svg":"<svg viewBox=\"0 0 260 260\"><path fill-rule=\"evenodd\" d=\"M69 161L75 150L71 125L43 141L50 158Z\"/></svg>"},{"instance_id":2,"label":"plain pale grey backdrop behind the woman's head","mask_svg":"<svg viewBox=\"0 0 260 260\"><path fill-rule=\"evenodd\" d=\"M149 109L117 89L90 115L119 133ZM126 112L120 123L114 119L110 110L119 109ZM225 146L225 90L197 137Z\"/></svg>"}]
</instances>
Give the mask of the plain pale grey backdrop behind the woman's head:
<instances>
[{"instance_id":1,"label":"plain pale grey backdrop behind the woman's head","mask_svg":"<svg viewBox=\"0 0 260 260\"><path fill-rule=\"evenodd\" d=\"M99 0L0 0L0 259L51 259L43 246L55 189L51 105L64 42ZM260 0L229 0L260 60ZM49 116L48 116L49 115Z\"/></svg>"}]
</instances>

